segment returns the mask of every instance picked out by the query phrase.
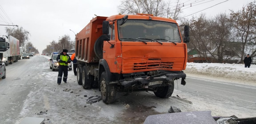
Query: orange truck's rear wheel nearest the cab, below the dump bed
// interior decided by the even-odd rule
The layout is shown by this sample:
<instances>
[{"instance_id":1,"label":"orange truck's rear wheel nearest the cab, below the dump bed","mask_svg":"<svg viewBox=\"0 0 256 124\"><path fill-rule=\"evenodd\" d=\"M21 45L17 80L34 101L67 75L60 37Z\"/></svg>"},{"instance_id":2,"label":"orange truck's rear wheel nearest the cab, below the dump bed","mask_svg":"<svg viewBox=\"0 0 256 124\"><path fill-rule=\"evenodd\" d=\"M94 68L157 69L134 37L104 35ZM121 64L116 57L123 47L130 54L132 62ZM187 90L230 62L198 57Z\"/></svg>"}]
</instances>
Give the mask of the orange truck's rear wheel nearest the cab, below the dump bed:
<instances>
[{"instance_id":1,"label":"orange truck's rear wheel nearest the cab, below the dump bed","mask_svg":"<svg viewBox=\"0 0 256 124\"><path fill-rule=\"evenodd\" d=\"M91 84L93 82L93 76L88 74L86 70L86 66L83 66L83 73L82 73L82 85L84 89L90 89Z\"/></svg>"}]
</instances>

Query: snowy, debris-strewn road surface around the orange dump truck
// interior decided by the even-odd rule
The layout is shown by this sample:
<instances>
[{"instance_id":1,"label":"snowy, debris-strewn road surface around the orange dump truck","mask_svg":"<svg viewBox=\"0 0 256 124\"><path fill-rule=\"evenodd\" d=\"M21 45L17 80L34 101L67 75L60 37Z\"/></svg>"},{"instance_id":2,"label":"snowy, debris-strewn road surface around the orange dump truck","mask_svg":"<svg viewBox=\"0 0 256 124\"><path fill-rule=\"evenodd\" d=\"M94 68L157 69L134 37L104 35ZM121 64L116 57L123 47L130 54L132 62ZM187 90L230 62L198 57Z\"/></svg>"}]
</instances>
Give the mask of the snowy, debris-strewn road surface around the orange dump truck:
<instances>
[{"instance_id":1,"label":"snowy, debris-strewn road surface around the orange dump truck","mask_svg":"<svg viewBox=\"0 0 256 124\"><path fill-rule=\"evenodd\" d=\"M68 83L57 85L58 72L50 70L47 58L38 55L6 67L7 77L0 79L0 123L18 124L25 117L45 118L49 119L45 123L53 124L143 123L148 115L167 113L170 106L183 112L211 110L213 116L256 116L253 113L253 105L256 105L253 96L255 87L195 77L188 77L186 86L181 86L178 81L179 90L175 84L173 97L169 99L157 98L152 92L127 96L119 93L114 104L106 105L102 101L87 104L89 96L100 95L98 89L83 89L77 84L73 70L68 72ZM63 91L66 88L70 91ZM176 95L186 99L177 98ZM47 114L35 114L46 110Z\"/></svg>"}]
</instances>

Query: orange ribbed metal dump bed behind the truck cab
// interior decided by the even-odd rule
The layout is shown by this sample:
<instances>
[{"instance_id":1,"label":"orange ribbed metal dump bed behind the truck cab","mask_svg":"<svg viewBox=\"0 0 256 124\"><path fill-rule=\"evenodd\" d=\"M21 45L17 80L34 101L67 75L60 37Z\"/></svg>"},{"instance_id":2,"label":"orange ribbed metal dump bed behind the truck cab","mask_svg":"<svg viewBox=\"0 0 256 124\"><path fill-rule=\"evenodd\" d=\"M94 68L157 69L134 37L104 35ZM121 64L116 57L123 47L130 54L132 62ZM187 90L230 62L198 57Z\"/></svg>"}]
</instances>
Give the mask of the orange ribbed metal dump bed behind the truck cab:
<instances>
[{"instance_id":1,"label":"orange ribbed metal dump bed behind the truck cab","mask_svg":"<svg viewBox=\"0 0 256 124\"><path fill-rule=\"evenodd\" d=\"M94 43L102 35L102 22L108 17L97 16L84 27L76 39L76 58L77 61L95 63L99 59L94 52Z\"/></svg>"}]
</instances>

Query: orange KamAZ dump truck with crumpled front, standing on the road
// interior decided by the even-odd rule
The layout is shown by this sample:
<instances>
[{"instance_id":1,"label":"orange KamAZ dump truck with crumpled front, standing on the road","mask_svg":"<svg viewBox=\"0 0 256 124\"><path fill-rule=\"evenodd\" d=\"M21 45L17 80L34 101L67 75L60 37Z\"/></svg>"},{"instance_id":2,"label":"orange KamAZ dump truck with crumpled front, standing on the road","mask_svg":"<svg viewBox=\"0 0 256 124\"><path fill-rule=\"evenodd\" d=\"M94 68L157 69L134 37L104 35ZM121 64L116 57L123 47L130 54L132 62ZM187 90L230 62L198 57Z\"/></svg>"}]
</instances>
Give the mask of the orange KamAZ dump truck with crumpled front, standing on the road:
<instances>
[{"instance_id":1,"label":"orange KamAZ dump truck with crumpled front, standing on the road","mask_svg":"<svg viewBox=\"0 0 256 124\"><path fill-rule=\"evenodd\" d=\"M173 19L148 14L97 16L76 38L77 81L99 87L104 103L117 92L153 91L168 98L174 80L185 85L189 28L184 39Z\"/></svg>"}]
</instances>

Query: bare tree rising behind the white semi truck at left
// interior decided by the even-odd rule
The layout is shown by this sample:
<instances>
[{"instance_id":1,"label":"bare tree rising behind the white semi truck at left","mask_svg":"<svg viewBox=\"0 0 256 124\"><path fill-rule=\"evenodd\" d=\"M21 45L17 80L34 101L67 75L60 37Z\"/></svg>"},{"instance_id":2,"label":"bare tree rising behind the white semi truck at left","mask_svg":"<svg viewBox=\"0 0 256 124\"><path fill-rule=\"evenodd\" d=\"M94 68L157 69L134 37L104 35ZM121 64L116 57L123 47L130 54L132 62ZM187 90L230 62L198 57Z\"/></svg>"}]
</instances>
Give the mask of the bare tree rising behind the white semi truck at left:
<instances>
[{"instance_id":1,"label":"bare tree rising behind the white semi truck at left","mask_svg":"<svg viewBox=\"0 0 256 124\"><path fill-rule=\"evenodd\" d=\"M25 43L24 39L29 39L28 36L30 36L30 33L27 30L23 29L23 27L20 27L20 28L5 27L5 31L7 34L18 39L20 42L20 46L22 46L22 43Z\"/></svg>"}]
</instances>

